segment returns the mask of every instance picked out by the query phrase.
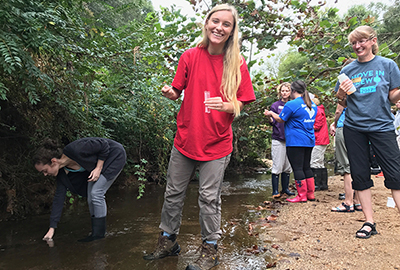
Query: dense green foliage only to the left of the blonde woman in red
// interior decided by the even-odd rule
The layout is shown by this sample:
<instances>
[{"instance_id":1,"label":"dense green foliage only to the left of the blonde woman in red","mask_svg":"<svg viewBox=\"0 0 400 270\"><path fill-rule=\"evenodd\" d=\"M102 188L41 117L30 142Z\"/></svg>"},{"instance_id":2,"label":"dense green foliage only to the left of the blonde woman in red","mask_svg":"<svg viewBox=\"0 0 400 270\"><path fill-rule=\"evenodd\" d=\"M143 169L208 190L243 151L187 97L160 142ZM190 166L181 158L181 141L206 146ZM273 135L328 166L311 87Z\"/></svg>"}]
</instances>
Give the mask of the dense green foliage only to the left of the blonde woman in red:
<instances>
[{"instance_id":1,"label":"dense green foliage only to the left of the blonde woman in red","mask_svg":"<svg viewBox=\"0 0 400 270\"><path fill-rule=\"evenodd\" d=\"M53 179L30 162L45 137L113 138L127 150L126 176L135 177L143 159L150 177L165 173L179 104L159 90L196 37L195 24L173 8L156 14L148 1L101 3L1 7L0 205L10 213L48 205Z\"/></svg>"}]
</instances>

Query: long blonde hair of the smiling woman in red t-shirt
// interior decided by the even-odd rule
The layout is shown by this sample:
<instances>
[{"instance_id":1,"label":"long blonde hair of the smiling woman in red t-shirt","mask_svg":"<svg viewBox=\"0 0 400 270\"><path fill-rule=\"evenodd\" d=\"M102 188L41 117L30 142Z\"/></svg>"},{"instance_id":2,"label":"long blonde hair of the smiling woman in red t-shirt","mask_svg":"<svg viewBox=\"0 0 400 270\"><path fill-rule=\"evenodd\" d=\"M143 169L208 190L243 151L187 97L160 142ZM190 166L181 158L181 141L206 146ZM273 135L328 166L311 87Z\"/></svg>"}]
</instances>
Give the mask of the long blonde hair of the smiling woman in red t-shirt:
<instances>
[{"instance_id":1,"label":"long blonde hair of the smiling woman in red t-shirt","mask_svg":"<svg viewBox=\"0 0 400 270\"><path fill-rule=\"evenodd\" d=\"M239 46L239 16L235 7L229 4L221 4L215 6L208 13L206 23L203 26L203 40L197 44L197 47L207 48L209 45L209 39L207 37L206 25L211 15L215 12L227 10L232 12L233 17L233 29L228 40L224 46L224 71L222 73L222 81L220 91L228 102L233 105L235 116L240 115L240 106L236 97L240 83L242 81L242 74L240 73L240 66L243 63L243 58L240 55Z\"/></svg>"}]
</instances>

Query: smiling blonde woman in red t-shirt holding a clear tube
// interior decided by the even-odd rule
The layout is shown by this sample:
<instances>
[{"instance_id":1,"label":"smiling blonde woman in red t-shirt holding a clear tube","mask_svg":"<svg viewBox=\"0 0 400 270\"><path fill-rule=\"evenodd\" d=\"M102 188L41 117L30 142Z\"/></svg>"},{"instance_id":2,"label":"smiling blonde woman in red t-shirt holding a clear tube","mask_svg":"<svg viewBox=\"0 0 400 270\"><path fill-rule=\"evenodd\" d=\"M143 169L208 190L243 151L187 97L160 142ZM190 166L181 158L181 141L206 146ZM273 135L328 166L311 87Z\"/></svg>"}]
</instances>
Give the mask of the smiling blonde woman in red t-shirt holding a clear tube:
<instances>
[{"instance_id":1,"label":"smiling blonde woman in red t-shirt holding a clear tube","mask_svg":"<svg viewBox=\"0 0 400 270\"><path fill-rule=\"evenodd\" d=\"M255 100L244 58L240 55L238 14L228 4L206 17L203 40L179 59L172 85L162 89L176 100L184 91L167 173L167 186L156 249L146 260L177 255L176 238L187 186L199 166L201 254L187 270L218 264L221 238L221 186L232 152L231 124L243 106Z\"/></svg>"}]
</instances>

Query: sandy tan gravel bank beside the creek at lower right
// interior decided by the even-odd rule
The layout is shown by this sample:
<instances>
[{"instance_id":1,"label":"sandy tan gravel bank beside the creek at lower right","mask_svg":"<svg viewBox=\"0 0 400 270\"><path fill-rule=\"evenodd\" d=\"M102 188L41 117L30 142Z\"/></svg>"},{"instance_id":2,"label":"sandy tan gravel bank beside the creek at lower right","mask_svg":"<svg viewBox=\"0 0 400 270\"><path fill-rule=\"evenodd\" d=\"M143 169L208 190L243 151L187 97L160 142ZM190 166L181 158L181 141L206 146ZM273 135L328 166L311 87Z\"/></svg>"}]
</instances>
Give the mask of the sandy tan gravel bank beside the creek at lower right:
<instances>
[{"instance_id":1,"label":"sandy tan gravel bank beside the creek at lower right","mask_svg":"<svg viewBox=\"0 0 400 270\"><path fill-rule=\"evenodd\" d=\"M271 245L274 269L400 269L400 214L386 206L390 190L383 177L372 176L374 219L378 234L358 239L362 212L334 213L339 193L343 192L340 176L330 177L329 190L317 191L316 201L282 206L273 227L259 237Z\"/></svg>"}]
</instances>

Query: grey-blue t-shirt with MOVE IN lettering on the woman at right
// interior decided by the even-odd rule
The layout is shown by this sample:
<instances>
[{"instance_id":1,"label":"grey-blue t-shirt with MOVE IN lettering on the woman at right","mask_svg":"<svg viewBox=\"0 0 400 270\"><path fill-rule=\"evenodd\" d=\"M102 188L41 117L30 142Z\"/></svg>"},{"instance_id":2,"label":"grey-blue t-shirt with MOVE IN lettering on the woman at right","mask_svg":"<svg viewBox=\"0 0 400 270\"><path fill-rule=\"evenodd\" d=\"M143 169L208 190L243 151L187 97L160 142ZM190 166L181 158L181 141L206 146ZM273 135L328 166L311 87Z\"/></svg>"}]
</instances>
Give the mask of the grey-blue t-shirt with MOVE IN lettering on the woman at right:
<instances>
[{"instance_id":1,"label":"grey-blue t-shirt with MOVE IN lettering on the woman at right","mask_svg":"<svg viewBox=\"0 0 400 270\"><path fill-rule=\"evenodd\" d=\"M369 62L353 61L345 73L357 91L347 96L344 125L364 132L394 130L389 91L400 86L400 70L390 59L375 56ZM339 90L339 82L335 91Z\"/></svg>"}]
</instances>

